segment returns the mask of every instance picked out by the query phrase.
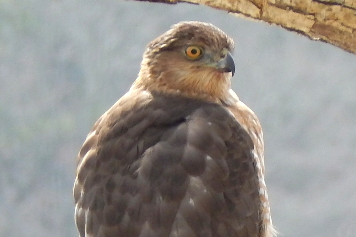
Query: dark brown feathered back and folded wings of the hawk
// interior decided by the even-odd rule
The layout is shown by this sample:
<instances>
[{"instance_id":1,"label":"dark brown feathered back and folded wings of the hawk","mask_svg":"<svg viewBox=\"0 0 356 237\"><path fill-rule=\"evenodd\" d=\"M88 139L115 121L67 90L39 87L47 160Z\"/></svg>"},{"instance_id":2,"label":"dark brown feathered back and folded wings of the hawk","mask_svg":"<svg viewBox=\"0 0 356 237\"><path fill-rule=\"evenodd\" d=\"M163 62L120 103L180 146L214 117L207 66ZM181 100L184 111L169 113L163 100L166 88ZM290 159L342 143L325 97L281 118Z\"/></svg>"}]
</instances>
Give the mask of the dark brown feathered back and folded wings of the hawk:
<instances>
[{"instance_id":1,"label":"dark brown feathered back and folded wings of the hawk","mask_svg":"<svg viewBox=\"0 0 356 237\"><path fill-rule=\"evenodd\" d=\"M222 105L130 91L78 155L81 237L259 237L251 137Z\"/></svg>"}]
</instances>

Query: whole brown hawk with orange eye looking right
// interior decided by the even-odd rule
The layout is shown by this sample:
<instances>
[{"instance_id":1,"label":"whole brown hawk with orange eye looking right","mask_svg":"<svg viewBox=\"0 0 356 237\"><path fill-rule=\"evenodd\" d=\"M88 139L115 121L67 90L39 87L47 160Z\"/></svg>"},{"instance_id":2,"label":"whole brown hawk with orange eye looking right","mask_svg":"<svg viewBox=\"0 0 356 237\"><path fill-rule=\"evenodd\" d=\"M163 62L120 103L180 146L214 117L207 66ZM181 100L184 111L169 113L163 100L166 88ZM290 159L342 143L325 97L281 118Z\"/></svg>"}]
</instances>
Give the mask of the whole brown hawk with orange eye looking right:
<instances>
[{"instance_id":1,"label":"whole brown hawk with orange eye looking right","mask_svg":"<svg viewBox=\"0 0 356 237\"><path fill-rule=\"evenodd\" d=\"M230 89L233 40L180 22L148 44L130 90L77 160L80 237L272 237L256 115Z\"/></svg>"}]
</instances>

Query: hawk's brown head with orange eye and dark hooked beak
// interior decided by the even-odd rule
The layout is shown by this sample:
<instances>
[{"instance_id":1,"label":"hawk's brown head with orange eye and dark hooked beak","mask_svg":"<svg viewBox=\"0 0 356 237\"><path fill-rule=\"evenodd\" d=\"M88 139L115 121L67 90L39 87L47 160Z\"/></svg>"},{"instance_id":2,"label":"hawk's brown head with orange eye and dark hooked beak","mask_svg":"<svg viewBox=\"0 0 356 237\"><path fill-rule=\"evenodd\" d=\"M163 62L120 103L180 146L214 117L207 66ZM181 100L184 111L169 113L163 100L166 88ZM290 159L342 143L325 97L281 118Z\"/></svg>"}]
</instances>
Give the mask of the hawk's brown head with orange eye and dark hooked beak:
<instances>
[{"instance_id":1,"label":"hawk's brown head with orange eye and dark hooked beak","mask_svg":"<svg viewBox=\"0 0 356 237\"><path fill-rule=\"evenodd\" d=\"M218 27L180 22L147 45L133 87L224 101L235 72L233 49L232 38Z\"/></svg>"}]
</instances>

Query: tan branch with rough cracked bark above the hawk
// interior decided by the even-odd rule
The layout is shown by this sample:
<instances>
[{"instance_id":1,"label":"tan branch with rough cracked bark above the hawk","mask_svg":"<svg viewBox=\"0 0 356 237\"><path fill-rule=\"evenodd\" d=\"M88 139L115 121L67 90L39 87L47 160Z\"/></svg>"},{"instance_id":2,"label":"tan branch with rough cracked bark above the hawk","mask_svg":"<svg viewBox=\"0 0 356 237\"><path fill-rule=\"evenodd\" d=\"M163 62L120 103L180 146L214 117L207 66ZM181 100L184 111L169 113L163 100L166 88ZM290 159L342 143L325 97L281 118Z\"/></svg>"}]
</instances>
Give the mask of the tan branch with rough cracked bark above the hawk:
<instances>
[{"instance_id":1,"label":"tan branch with rough cracked bark above the hawk","mask_svg":"<svg viewBox=\"0 0 356 237\"><path fill-rule=\"evenodd\" d=\"M143 0L146 1L146 0ZM181 0L147 0L175 4ZM184 0L276 24L356 54L356 0Z\"/></svg>"}]
</instances>

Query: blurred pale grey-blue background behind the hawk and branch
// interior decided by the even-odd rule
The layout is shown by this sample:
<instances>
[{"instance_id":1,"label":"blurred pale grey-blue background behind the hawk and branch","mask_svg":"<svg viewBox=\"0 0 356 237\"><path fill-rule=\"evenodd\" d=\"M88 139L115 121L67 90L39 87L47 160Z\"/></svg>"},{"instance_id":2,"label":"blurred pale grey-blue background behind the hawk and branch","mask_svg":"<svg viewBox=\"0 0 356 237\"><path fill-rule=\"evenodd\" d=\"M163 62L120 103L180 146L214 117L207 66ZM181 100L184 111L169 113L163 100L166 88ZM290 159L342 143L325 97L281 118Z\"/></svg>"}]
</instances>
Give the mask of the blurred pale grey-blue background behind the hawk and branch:
<instances>
[{"instance_id":1,"label":"blurred pale grey-blue background behind the hawk and branch","mask_svg":"<svg viewBox=\"0 0 356 237\"><path fill-rule=\"evenodd\" d=\"M281 236L356 236L356 56L205 6L122 0L0 0L0 236L78 236L79 148L146 44L183 20L235 39L232 87L264 129Z\"/></svg>"}]
</instances>

